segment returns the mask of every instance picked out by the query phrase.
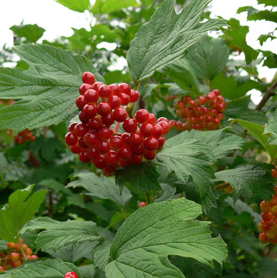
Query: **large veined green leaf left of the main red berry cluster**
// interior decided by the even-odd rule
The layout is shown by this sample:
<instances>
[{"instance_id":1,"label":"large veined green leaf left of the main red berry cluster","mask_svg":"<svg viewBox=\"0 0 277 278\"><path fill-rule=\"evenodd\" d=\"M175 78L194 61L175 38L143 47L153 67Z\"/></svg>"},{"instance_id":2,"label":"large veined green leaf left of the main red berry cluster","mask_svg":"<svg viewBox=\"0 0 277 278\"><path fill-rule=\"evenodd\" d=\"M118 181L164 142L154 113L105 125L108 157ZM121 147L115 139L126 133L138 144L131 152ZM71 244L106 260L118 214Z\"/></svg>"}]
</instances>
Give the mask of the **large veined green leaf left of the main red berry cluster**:
<instances>
[{"instance_id":1,"label":"large veined green leaf left of the main red berry cluster","mask_svg":"<svg viewBox=\"0 0 277 278\"><path fill-rule=\"evenodd\" d=\"M21 99L0 109L0 129L32 130L65 121L76 107L82 73L104 81L85 56L47 44L22 44L15 53L29 64L26 71L0 68L1 98Z\"/></svg>"}]
</instances>

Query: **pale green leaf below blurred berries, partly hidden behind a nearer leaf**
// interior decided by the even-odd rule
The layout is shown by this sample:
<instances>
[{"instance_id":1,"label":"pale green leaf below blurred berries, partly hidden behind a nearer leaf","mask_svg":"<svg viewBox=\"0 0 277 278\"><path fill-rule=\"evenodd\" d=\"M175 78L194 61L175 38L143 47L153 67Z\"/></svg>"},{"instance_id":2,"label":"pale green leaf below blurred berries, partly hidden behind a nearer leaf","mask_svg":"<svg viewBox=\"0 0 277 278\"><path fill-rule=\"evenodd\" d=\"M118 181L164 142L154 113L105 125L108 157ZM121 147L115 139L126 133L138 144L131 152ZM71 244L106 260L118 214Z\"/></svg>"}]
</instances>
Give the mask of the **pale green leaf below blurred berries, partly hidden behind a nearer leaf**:
<instances>
[{"instance_id":1,"label":"pale green leaf below blurred berries, partly hidden behind a nearer leaf","mask_svg":"<svg viewBox=\"0 0 277 278\"><path fill-rule=\"evenodd\" d=\"M175 135L168 139L165 142L166 147L173 147L179 142L182 142L187 139L198 139L201 140L197 143L202 144L203 147L205 144L211 146L207 148L207 154L211 153L215 156L215 158L224 158L231 153L234 152L236 149L241 149L245 140L238 135L223 132L224 129L218 129L213 131L199 131L199 130L191 130L191 131L183 131L178 135ZM205 144L203 144L205 143ZM211 151L210 151L211 150Z\"/></svg>"}]
</instances>

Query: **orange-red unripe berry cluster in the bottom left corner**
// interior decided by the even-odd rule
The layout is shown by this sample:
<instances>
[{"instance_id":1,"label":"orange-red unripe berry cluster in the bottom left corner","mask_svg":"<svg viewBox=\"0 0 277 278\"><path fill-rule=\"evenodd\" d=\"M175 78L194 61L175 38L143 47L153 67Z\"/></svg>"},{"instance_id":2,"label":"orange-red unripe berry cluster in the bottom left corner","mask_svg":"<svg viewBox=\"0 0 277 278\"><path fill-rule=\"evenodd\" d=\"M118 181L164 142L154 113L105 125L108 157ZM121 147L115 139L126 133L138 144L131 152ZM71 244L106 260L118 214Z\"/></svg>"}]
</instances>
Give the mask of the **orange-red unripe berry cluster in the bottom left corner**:
<instances>
[{"instance_id":1,"label":"orange-red unripe berry cluster in the bottom left corner","mask_svg":"<svg viewBox=\"0 0 277 278\"><path fill-rule=\"evenodd\" d=\"M32 255L32 249L29 248L27 244L24 244L22 239L20 239L20 245L19 243L8 242L7 247L9 248L9 250L5 250L5 252L3 253L0 251L0 272L8 270L9 266L11 266L12 268L19 267L20 265L22 265L22 263L24 263L26 259L38 259L37 255Z\"/></svg>"}]
</instances>

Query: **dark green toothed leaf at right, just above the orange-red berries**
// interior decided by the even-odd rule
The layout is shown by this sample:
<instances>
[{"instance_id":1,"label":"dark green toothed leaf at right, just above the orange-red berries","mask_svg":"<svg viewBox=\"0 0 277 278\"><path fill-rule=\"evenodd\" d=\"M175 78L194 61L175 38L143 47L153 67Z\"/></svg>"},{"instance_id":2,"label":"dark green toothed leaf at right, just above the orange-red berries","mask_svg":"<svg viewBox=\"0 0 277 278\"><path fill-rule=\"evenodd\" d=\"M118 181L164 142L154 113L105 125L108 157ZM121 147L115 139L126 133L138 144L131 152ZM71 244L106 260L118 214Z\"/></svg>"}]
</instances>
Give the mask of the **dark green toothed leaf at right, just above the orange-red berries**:
<instances>
[{"instance_id":1,"label":"dark green toothed leaf at right, just above the orange-red berries","mask_svg":"<svg viewBox=\"0 0 277 278\"><path fill-rule=\"evenodd\" d=\"M268 200L274 194L274 177L271 175L271 164L253 163L243 167L223 170L215 173L217 180L228 182L235 191L243 189L250 197L257 194Z\"/></svg>"}]
</instances>

